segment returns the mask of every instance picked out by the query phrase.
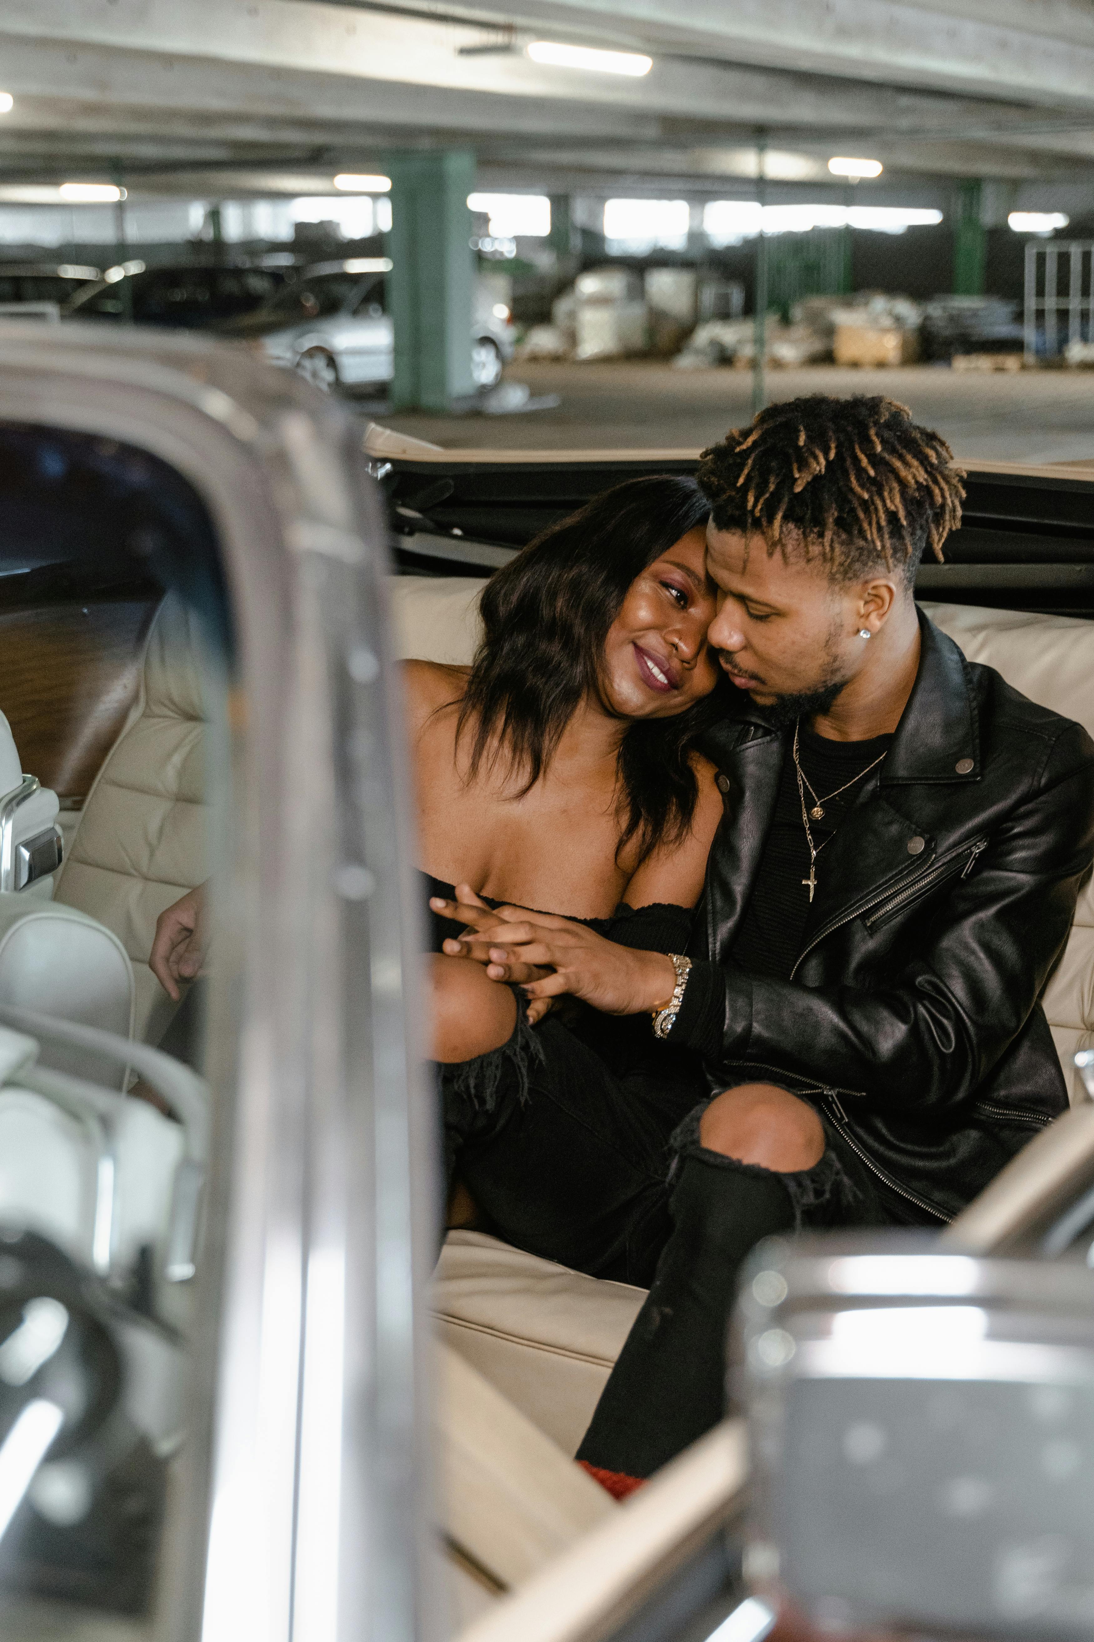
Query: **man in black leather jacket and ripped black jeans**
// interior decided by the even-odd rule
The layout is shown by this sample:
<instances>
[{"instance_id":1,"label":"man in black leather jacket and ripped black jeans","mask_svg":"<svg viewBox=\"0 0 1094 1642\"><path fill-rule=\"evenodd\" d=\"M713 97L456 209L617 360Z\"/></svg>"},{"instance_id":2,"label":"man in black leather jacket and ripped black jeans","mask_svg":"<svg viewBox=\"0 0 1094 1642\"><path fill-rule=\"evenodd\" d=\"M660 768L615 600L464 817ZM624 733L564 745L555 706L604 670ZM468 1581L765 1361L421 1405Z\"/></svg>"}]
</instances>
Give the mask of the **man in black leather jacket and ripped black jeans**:
<instances>
[{"instance_id":1,"label":"man in black leather jacket and ripped black jeans","mask_svg":"<svg viewBox=\"0 0 1094 1642\"><path fill-rule=\"evenodd\" d=\"M938 435L887 399L799 399L705 452L699 481L709 637L740 703L707 747L725 819L689 954L520 908L466 906L453 944L531 997L648 1011L666 1046L702 1057L710 1098L672 1136L661 1220L618 1080L587 1071L559 1094L546 1039L526 1108L464 1115L464 1176L504 1235L517 1220L515 1240L548 1253L494 1189L504 1171L559 1202L592 1156L605 1189L569 1192L571 1263L620 1274L599 1250L659 1248L579 1450L618 1489L720 1417L725 1319L761 1236L941 1227L1064 1110L1038 998L1094 857L1086 732L915 608L920 555L941 558L960 522Z\"/></svg>"}]
</instances>

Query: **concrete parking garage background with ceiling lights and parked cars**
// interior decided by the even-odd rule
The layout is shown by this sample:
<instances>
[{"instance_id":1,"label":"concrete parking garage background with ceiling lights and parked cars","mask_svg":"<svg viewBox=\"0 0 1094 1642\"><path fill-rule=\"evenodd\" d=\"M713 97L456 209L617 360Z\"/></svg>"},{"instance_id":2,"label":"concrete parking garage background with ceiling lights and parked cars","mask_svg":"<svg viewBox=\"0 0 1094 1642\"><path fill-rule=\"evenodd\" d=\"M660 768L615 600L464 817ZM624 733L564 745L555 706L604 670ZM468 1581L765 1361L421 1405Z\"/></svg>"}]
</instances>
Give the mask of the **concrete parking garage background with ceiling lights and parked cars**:
<instances>
[{"instance_id":1,"label":"concrete parking garage background with ceiling lights and parked cars","mask_svg":"<svg viewBox=\"0 0 1094 1642\"><path fill-rule=\"evenodd\" d=\"M868 386L1094 460L1078 5L3 15L0 307L213 330L444 447Z\"/></svg>"}]
</instances>

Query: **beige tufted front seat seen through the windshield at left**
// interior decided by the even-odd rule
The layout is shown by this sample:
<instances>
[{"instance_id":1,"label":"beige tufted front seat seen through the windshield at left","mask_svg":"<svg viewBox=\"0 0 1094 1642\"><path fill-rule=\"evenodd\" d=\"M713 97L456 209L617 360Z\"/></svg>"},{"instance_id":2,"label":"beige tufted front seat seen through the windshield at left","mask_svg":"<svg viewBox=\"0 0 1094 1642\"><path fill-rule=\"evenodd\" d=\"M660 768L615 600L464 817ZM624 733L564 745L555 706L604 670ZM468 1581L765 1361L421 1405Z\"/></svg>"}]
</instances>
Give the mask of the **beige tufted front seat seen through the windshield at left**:
<instances>
[{"instance_id":1,"label":"beige tufted front seat seen through the windshield at left","mask_svg":"<svg viewBox=\"0 0 1094 1642\"><path fill-rule=\"evenodd\" d=\"M174 1011L148 967L156 920L207 877L200 657L192 614L166 598L148 635L141 693L87 795L54 892L125 946L134 1036L149 1043Z\"/></svg>"}]
</instances>

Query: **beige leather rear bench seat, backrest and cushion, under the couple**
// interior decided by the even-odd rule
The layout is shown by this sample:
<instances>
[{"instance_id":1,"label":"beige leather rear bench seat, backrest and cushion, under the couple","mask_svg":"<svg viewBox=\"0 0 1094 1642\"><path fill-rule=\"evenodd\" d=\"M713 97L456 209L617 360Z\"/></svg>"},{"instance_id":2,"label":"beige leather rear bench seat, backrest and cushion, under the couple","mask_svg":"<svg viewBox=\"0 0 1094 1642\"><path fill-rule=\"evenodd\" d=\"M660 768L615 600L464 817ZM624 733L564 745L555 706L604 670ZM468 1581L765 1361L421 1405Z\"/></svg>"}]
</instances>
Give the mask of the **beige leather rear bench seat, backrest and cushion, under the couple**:
<instances>
[{"instance_id":1,"label":"beige leather rear bench seat, backrest and cushion, under the couple","mask_svg":"<svg viewBox=\"0 0 1094 1642\"><path fill-rule=\"evenodd\" d=\"M482 581L392 581L400 657L469 662ZM925 604L971 662L994 667L1043 706L1094 736L1094 622L963 604ZM1086 1094L1071 1056L1094 1041L1094 887L1079 898L1068 947L1045 992L1045 1013L1074 1102ZM645 1299L508 1248L481 1233L449 1235L433 1305L443 1337L574 1452L600 1387Z\"/></svg>"}]
</instances>

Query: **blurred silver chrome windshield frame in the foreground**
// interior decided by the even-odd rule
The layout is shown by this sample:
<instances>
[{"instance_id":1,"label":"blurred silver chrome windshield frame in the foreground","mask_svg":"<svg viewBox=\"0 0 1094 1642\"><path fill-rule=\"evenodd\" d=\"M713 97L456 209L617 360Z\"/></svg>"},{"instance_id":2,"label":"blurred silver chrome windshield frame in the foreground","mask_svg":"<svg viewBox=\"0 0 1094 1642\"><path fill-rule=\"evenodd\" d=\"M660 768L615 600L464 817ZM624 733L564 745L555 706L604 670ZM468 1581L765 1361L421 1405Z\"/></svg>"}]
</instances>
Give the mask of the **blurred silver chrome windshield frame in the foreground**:
<instances>
[{"instance_id":1,"label":"blurred silver chrome windshield frame in the foreground","mask_svg":"<svg viewBox=\"0 0 1094 1642\"><path fill-rule=\"evenodd\" d=\"M233 791L212 851L212 1167L156 1642L433 1635L431 1108L385 527L359 427L231 345L75 322L0 323L0 420L182 473L238 634L231 727L210 747ZM335 1511L317 1486L331 1466Z\"/></svg>"}]
</instances>

